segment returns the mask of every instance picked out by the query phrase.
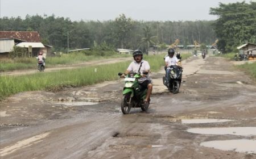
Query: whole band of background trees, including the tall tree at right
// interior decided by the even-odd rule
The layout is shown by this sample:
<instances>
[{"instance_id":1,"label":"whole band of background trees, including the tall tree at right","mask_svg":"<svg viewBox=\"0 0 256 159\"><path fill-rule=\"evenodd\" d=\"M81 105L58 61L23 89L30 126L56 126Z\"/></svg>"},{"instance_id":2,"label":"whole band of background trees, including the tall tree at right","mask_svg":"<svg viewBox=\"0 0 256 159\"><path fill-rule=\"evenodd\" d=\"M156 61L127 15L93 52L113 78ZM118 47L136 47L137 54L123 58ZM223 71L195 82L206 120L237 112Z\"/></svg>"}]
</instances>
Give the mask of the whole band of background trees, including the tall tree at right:
<instances>
[{"instance_id":1,"label":"whole band of background trees, including the tall tree at right","mask_svg":"<svg viewBox=\"0 0 256 159\"><path fill-rule=\"evenodd\" d=\"M235 51L238 45L256 43L256 2L220 3L210 8L217 20L144 22L121 14L103 22L72 21L55 15L27 15L22 19L0 18L1 31L38 31L44 44L56 51L79 48L148 49L150 45L165 48L179 39L179 45L211 45L218 39L222 52Z\"/></svg>"}]
</instances>

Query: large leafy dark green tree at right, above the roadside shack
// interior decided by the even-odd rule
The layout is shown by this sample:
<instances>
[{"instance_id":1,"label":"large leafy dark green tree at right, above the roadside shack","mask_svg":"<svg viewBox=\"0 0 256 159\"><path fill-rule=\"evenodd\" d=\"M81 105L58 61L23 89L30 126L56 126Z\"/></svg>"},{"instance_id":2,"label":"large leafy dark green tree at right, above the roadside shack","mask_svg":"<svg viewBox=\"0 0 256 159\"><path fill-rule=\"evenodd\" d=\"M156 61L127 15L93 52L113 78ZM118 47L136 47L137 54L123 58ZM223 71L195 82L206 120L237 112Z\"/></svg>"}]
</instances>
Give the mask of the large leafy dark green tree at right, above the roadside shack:
<instances>
[{"instance_id":1,"label":"large leafy dark green tree at right, above the roadside shack","mask_svg":"<svg viewBox=\"0 0 256 159\"><path fill-rule=\"evenodd\" d=\"M256 42L256 2L220 3L210 9L210 14L219 17L214 30L222 51L230 52L242 43Z\"/></svg>"}]
</instances>

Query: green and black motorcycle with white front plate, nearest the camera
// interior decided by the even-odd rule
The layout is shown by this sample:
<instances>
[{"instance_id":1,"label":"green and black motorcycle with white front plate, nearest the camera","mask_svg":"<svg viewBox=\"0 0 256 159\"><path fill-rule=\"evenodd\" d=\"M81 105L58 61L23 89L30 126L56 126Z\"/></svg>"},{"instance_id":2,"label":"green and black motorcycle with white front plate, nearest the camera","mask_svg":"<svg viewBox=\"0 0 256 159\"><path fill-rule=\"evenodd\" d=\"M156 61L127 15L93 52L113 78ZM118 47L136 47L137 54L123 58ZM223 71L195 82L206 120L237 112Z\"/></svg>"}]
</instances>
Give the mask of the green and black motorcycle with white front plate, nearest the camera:
<instances>
[{"instance_id":1,"label":"green and black motorcycle with white front plate, nearest the camera","mask_svg":"<svg viewBox=\"0 0 256 159\"><path fill-rule=\"evenodd\" d=\"M118 76L122 76L123 73L118 73ZM143 74L147 74L143 72ZM121 103L121 110L123 114L129 114L131 108L141 108L146 111L149 106L144 104L144 99L147 95L147 89L143 89L139 85L139 79L142 78L140 72L131 72L125 77L125 86L123 87L123 98Z\"/></svg>"}]
</instances>

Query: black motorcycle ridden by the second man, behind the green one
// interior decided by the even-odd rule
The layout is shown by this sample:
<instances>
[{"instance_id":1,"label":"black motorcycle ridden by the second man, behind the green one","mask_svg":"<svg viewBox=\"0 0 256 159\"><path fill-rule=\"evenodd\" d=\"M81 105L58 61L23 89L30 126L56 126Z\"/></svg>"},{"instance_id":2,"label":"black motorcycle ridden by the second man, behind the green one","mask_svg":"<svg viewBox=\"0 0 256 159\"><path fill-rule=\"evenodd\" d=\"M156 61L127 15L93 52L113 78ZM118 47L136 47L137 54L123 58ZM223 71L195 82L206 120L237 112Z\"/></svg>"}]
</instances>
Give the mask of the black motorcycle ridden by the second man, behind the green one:
<instances>
[{"instance_id":1,"label":"black motorcycle ridden by the second man, behind the green one","mask_svg":"<svg viewBox=\"0 0 256 159\"><path fill-rule=\"evenodd\" d=\"M168 82L169 85L167 85L165 76L163 77L163 84L168 88L170 92L174 94L179 93L182 78L182 68L177 65L172 65L167 69L170 69L170 81Z\"/></svg>"}]
</instances>

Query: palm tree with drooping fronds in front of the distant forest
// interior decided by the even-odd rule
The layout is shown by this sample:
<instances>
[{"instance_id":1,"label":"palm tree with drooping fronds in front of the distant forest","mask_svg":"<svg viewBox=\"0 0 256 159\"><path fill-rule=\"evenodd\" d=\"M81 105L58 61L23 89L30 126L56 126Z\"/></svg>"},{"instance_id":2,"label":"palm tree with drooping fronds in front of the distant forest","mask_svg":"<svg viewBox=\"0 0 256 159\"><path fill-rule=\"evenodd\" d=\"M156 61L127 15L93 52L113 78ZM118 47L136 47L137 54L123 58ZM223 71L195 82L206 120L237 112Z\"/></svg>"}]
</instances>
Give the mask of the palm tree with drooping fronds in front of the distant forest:
<instances>
[{"instance_id":1,"label":"palm tree with drooping fronds in front of the distant forest","mask_svg":"<svg viewBox=\"0 0 256 159\"><path fill-rule=\"evenodd\" d=\"M147 52L146 53L148 55L148 48L150 47L150 44L156 43L157 36L151 35L151 27L150 26L144 27L143 32L144 32L144 37L142 37L140 44L143 44L143 43L147 44Z\"/></svg>"}]
</instances>

